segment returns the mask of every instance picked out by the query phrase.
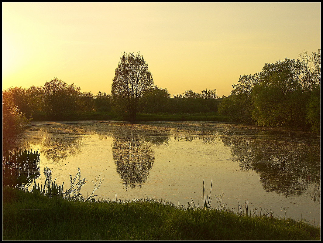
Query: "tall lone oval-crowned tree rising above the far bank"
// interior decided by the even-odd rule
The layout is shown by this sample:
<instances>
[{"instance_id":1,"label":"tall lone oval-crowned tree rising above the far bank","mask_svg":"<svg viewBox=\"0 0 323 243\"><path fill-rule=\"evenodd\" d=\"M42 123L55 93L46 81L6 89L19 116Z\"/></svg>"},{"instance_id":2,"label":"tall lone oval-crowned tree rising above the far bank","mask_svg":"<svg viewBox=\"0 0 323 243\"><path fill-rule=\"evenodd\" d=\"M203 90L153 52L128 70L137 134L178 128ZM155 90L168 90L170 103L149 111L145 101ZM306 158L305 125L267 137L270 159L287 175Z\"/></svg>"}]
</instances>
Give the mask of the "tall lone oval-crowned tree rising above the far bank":
<instances>
[{"instance_id":1,"label":"tall lone oval-crowned tree rising above the far bank","mask_svg":"<svg viewBox=\"0 0 323 243\"><path fill-rule=\"evenodd\" d=\"M136 121L138 104L144 93L153 87L148 64L138 52L123 53L115 70L111 96L117 111L130 121Z\"/></svg>"}]
</instances>

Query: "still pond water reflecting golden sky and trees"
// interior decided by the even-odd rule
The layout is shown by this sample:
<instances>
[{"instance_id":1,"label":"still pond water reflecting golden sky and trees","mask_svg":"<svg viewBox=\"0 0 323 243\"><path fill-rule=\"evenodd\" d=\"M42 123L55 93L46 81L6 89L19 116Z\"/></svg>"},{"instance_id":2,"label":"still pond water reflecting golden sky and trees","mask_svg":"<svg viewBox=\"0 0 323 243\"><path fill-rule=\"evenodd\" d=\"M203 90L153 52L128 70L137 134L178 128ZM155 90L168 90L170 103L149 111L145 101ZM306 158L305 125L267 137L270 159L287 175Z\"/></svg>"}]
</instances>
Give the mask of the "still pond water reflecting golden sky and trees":
<instances>
[{"instance_id":1,"label":"still pond water reflecting golden sky and trees","mask_svg":"<svg viewBox=\"0 0 323 243\"><path fill-rule=\"evenodd\" d=\"M63 122L64 123L64 122ZM66 122L65 122L66 123ZM31 122L27 149L40 152L44 168L67 189L81 169L88 179L104 177L98 199L153 198L203 206L203 182L211 207L273 212L320 225L320 137L296 130L214 122L79 121ZM286 211L286 212L285 212Z\"/></svg>"}]
</instances>

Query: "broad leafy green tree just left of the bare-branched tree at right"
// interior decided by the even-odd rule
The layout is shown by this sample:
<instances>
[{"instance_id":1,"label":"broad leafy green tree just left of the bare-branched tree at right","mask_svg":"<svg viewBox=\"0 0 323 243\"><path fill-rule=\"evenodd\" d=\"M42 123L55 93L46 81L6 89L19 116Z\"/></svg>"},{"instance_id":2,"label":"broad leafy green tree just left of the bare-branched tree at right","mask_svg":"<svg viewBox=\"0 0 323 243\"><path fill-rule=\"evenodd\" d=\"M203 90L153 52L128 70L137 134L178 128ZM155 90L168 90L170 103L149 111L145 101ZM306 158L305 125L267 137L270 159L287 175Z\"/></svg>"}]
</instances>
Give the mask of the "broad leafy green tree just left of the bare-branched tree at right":
<instances>
[{"instance_id":1,"label":"broad leafy green tree just left of the bare-branched tree at right","mask_svg":"<svg viewBox=\"0 0 323 243\"><path fill-rule=\"evenodd\" d=\"M303 69L302 62L288 58L265 64L251 94L258 125L304 127L307 97L299 80Z\"/></svg>"}]
</instances>

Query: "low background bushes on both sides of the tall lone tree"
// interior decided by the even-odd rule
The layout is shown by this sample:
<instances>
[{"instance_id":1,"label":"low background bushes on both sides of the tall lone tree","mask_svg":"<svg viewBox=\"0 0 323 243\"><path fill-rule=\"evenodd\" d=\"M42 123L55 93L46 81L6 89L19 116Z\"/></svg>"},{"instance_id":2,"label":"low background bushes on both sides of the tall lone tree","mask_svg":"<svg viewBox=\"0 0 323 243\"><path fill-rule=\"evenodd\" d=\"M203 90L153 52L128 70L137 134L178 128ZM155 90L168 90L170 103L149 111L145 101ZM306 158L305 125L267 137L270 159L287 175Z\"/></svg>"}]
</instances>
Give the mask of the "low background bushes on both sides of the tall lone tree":
<instances>
[{"instance_id":1,"label":"low background bushes on both sides of the tall lone tree","mask_svg":"<svg viewBox=\"0 0 323 243\"><path fill-rule=\"evenodd\" d=\"M78 112L121 110L124 119L129 120L126 108L120 107L119 103L115 104L111 94L102 91L97 95L92 92L81 92L77 85L68 85L57 78L44 83L43 86L12 87L4 90L2 94L3 104L11 104L28 119L71 120ZM217 112L220 100L216 90L206 89L201 93L188 90L171 97L167 89L153 85L149 90L145 90L139 100L137 112Z\"/></svg>"}]
</instances>

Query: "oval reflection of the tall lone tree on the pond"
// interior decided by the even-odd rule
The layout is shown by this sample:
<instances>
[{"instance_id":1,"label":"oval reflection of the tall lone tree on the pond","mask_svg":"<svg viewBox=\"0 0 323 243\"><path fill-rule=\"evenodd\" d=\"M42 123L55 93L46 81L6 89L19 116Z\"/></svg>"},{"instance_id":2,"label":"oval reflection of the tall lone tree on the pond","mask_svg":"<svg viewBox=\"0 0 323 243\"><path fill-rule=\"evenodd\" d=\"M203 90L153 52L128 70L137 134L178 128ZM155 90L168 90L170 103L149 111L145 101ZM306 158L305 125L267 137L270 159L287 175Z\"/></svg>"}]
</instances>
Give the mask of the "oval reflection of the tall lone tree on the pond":
<instances>
[{"instance_id":1,"label":"oval reflection of the tall lone tree on the pond","mask_svg":"<svg viewBox=\"0 0 323 243\"><path fill-rule=\"evenodd\" d=\"M115 138L112 142L112 157L117 165L117 172L126 188L135 188L149 177L155 152L138 135L129 138Z\"/></svg>"}]
</instances>

